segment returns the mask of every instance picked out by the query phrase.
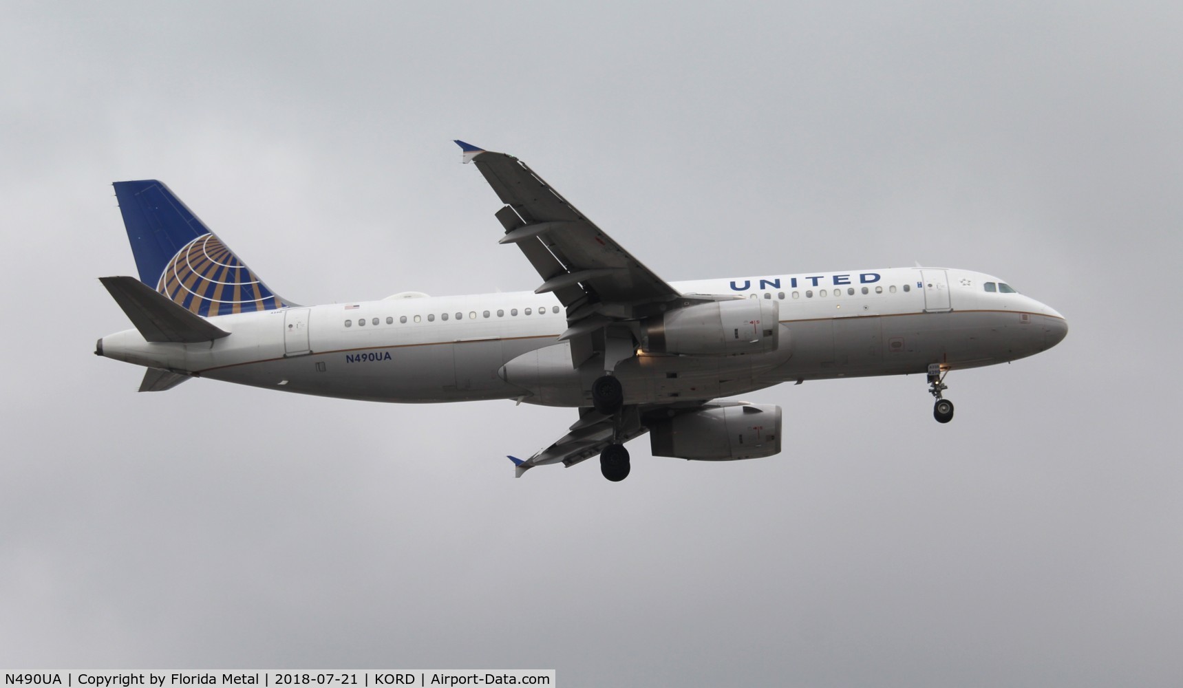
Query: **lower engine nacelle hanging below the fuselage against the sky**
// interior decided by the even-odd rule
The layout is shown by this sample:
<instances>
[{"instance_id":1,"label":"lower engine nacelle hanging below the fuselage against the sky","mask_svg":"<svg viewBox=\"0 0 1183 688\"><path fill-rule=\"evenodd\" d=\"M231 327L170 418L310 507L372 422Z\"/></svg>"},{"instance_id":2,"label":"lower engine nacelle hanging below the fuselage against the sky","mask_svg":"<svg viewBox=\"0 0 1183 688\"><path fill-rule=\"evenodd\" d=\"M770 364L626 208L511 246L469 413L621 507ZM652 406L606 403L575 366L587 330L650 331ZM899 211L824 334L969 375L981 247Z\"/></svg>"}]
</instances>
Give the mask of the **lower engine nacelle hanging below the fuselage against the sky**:
<instances>
[{"instance_id":1,"label":"lower engine nacelle hanging below the fuselage against the sky","mask_svg":"<svg viewBox=\"0 0 1183 688\"><path fill-rule=\"evenodd\" d=\"M781 407L776 404L705 408L648 427L654 456L731 461L781 450Z\"/></svg>"}]
</instances>

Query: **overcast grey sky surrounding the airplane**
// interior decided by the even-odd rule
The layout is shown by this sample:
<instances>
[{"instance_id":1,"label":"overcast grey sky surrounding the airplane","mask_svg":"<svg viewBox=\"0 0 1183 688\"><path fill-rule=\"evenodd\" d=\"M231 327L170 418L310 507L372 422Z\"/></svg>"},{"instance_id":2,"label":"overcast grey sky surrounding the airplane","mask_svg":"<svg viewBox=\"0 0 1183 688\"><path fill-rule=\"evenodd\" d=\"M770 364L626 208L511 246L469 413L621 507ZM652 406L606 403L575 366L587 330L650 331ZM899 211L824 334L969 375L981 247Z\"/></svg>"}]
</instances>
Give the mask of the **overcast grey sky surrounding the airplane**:
<instances>
[{"instance_id":1,"label":"overcast grey sky surrounding the airplane","mask_svg":"<svg viewBox=\"0 0 1183 688\"><path fill-rule=\"evenodd\" d=\"M0 667L563 686L1183 684L1177 2L0 2ZM303 304L534 288L452 143L668 280L926 265L1062 312L946 381L781 385L784 450L513 479L570 409L91 355L160 179Z\"/></svg>"}]
</instances>

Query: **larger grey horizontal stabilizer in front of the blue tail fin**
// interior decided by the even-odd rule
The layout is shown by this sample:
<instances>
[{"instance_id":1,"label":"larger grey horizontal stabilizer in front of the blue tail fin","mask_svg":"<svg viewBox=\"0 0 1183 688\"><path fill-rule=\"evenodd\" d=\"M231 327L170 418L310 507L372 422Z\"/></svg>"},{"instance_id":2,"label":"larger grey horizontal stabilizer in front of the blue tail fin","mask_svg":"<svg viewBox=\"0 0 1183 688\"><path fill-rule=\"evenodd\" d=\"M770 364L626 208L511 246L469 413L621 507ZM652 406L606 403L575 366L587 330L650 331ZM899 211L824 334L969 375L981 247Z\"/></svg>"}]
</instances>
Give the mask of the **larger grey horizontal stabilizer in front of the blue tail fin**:
<instances>
[{"instance_id":1,"label":"larger grey horizontal stabilizer in front of the blue tail fin","mask_svg":"<svg viewBox=\"0 0 1183 688\"><path fill-rule=\"evenodd\" d=\"M101 277L98 280L148 342L196 343L230 336L134 277Z\"/></svg>"}]
</instances>

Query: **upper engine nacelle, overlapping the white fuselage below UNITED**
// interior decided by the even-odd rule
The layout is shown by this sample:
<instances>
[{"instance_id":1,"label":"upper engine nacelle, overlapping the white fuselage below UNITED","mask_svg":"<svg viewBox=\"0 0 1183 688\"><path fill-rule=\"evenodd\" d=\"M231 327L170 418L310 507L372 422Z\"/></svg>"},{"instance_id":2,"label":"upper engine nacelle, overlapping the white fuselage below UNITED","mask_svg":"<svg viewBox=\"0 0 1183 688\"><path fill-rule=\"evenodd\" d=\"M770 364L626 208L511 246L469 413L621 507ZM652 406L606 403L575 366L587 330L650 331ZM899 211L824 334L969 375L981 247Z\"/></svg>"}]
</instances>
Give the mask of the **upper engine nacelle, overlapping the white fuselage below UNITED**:
<instances>
[{"instance_id":1,"label":"upper engine nacelle, overlapping the white fuselage below UNITED","mask_svg":"<svg viewBox=\"0 0 1183 688\"><path fill-rule=\"evenodd\" d=\"M780 346L780 303L735 299L686 306L645 322L645 351L685 356L767 353Z\"/></svg>"}]
</instances>

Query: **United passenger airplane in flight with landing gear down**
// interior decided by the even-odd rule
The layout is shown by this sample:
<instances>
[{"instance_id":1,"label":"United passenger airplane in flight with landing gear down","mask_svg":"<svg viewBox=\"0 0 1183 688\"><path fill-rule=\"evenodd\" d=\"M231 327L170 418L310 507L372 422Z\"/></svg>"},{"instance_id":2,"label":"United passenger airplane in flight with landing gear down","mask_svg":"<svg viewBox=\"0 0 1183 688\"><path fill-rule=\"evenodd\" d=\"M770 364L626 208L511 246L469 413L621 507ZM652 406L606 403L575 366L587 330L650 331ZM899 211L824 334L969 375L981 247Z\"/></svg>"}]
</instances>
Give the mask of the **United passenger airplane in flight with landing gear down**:
<instances>
[{"instance_id":1,"label":"United passenger airplane in flight with landing gear down","mask_svg":"<svg viewBox=\"0 0 1183 688\"><path fill-rule=\"evenodd\" d=\"M528 459L599 455L628 476L625 443L728 461L781 450L775 404L736 401L783 382L923 374L948 423L945 376L1060 343L1067 320L997 277L946 267L667 283L518 158L455 142L503 207L499 244L532 292L298 305L263 283L167 186L115 182L138 279L99 278L135 329L95 353L147 366L140 391L203 377L380 402L512 400L569 407L567 433Z\"/></svg>"}]
</instances>

